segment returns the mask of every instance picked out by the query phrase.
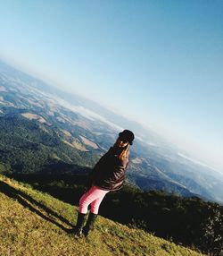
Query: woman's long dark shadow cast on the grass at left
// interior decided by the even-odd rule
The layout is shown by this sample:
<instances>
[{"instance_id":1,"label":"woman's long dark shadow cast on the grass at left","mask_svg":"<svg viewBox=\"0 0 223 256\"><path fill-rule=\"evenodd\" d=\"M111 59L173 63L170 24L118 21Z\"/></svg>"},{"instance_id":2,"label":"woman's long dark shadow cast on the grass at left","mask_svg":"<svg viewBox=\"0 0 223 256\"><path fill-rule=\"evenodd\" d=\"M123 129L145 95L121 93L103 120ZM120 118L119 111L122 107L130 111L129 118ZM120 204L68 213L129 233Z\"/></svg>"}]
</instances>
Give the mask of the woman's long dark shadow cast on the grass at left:
<instances>
[{"instance_id":1,"label":"woman's long dark shadow cast on the grass at left","mask_svg":"<svg viewBox=\"0 0 223 256\"><path fill-rule=\"evenodd\" d=\"M73 227L73 225L70 224L70 222L66 218L63 218L62 216L60 216L56 212L54 212L52 209L49 209L45 205L36 201L30 195L13 188L8 183L4 183L4 182L0 181L0 192L4 193L6 196L12 198L13 200L20 202L21 205L24 206L25 208L36 213L41 218L44 218L46 221L53 223L55 226L60 227L63 231L65 231L67 233L70 232L69 228L62 226L62 224L58 223L55 219L50 218L47 215L51 215L54 218L59 219L66 225ZM44 213L42 211L40 211L39 209L43 210Z\"/></svg>"}]
</instances>

